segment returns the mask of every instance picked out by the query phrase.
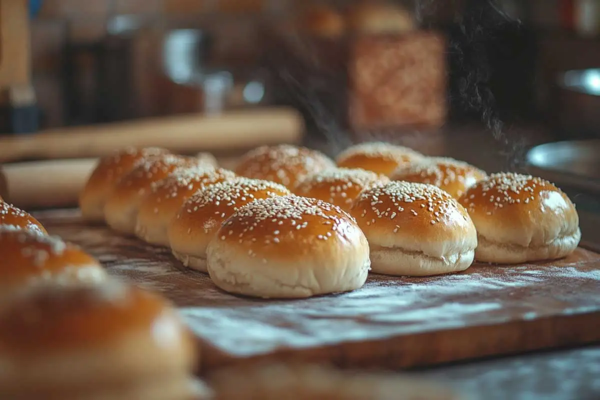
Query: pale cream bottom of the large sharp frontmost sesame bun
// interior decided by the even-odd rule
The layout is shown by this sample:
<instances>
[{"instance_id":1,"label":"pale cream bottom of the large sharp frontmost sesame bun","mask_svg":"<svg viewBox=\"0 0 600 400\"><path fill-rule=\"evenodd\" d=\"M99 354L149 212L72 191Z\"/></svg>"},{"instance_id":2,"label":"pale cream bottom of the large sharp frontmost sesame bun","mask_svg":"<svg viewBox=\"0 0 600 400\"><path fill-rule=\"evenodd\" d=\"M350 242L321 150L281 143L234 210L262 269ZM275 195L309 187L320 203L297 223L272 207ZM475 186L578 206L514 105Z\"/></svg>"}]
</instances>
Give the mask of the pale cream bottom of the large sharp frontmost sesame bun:
<instances>
[{"instance_id":1,"label":"pale cream bottom of the large sharp frontmost sesame bun","mask_svg":"<svg viewBox=\"0 0 600 400\"><path fill-rule=\"evenodd\" d=\"M208 274L217 287L263 299L301 299L356 290L367 281L370 266L368 254L365 260L347 258L328 268L323 264L311 268L302 260L264 264L256 258L241 257L230 249L210 245L206 260Z\"/></svg>"}]
</instances>

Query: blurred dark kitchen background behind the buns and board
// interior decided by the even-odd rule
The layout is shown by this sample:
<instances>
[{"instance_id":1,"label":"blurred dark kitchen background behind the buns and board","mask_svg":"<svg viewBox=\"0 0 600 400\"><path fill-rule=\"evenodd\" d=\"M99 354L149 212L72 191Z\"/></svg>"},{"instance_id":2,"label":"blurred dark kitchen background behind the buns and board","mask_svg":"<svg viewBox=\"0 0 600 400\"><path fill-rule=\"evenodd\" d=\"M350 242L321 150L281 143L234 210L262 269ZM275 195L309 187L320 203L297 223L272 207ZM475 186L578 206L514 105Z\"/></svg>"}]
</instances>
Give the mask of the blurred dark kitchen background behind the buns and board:
<instances>
[{"instance_id":1,"label":"blurred dark kitchen background behind the buns and board","mask_svg":"<svg viewBox=\"0 0 600 400\"><path fill-rule=\"evenodd\" d=\"M168 146L176 120L163 133L156 118L184 115L220 117L210 143L191 137L190 151L218 152L244 135L256 145L261 132L276 142L278 123L260 124L287 107L301 119L299 140L332 156L382 139L490 172L529 166L600 193L598 142L572 142L598 137L600 1L0 0L0 8L0 160L50 157L17 137L148 118L163 138L144 144ZM232 113L244 118L227 125ZM187 122L191 136L194 121L199 130L202 122ZM129 129L120 126L113 139ZM132 128L135 143L148 126ZM91 151L99 142L85 142L89 130L69 132L81 143L53 157L102 154Z\"/></svg>"}]
</instances>

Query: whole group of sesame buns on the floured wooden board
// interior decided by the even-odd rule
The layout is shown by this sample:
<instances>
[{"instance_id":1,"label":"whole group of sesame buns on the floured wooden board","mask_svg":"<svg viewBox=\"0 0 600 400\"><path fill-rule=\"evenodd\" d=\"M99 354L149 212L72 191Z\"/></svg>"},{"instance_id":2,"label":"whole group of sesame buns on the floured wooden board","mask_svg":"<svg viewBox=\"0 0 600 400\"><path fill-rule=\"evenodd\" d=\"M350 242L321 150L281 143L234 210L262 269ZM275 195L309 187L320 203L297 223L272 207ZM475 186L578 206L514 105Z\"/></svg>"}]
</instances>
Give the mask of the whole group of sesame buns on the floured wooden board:
<instances>
[{"instance_id":1,"label":"whole group of sesame buns on the floured wooden board","mask_svg":"<svg viewBox=\"0 0 600 400\"><path fill-rule=\"evenodd\" d=\"M473 260L563 257L580 240L571 200L543 179L487 175L389 143L331 160L262 146L230 171L214 158L128 149L82 191L84 218L169 246L230 293L308 297L361 287L368 271L459 272Z\"/></svg>"}]
</instances>

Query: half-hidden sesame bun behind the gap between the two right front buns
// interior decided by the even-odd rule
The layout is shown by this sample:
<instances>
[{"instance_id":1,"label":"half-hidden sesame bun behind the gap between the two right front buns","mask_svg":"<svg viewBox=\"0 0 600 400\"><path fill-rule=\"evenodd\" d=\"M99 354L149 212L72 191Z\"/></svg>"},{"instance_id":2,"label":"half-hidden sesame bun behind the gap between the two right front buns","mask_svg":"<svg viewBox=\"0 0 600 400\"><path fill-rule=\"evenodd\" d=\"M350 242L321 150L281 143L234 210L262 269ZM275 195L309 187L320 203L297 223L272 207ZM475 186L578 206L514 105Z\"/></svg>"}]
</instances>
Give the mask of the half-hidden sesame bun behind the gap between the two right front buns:
<instances>
[{"instance_id":1,"label":"half-hidden sesame bun behind the gap between the two right front buns","mask_svg":"<svg viewBox=\"0 0 600 400\"><path fill-rule=\"evenodd\" d=\"M484 171L463 161L431 157L398 167L390 178L392 181L434 185L458 199L464 191L486 176Z\"/></svg>"}]
</instances>

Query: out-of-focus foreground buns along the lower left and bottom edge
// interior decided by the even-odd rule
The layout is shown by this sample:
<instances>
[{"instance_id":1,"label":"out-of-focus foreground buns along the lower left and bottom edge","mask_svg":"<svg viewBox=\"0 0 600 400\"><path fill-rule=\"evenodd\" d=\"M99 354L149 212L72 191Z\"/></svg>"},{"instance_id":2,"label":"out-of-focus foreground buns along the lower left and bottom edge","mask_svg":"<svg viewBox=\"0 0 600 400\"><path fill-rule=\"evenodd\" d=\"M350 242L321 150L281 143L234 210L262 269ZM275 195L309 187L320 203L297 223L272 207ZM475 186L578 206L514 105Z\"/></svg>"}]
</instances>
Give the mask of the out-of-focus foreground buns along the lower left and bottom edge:
<instances>
[{"instance_id":1,"label":"out-of-focus foreground buns along the lower left and bottom edge","mask_svg":"<svg viewBox=\"0 0 600 400\"><path fill-rule=\"evenodd\" d=\"M222 368L200 381L194 338L166 299L109 278L29 213L0 206L0 398L462 398L396 374L298 363Z\"/></svg>"}]
</instances>

